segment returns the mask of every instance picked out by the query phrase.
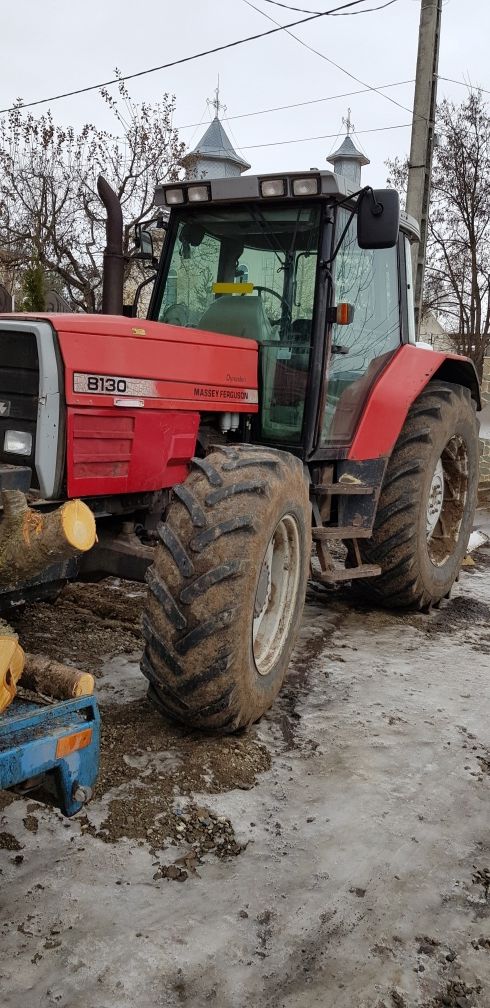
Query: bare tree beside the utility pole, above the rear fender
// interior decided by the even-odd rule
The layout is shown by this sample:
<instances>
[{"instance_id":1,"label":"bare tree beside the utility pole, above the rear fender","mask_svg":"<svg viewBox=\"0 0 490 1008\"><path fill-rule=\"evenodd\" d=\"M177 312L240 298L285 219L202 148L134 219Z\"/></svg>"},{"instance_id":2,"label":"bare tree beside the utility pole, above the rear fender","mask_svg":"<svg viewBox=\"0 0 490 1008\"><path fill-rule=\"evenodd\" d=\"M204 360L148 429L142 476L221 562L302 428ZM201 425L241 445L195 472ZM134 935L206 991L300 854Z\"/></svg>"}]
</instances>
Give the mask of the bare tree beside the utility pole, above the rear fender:
<instances>
[{"instance_id":1,"label":"bare tree beside the utility pole, above the rear fender","mask_svg":"<svg viewBox=\"0 0 490 1008\"><path fill-rule=\"evenodd\" d=\"M424 305L481 375L490 341L490 116L479 92L438 108ZM388 162L397 187L406 162Z\"/></svg>"}]
</instances>

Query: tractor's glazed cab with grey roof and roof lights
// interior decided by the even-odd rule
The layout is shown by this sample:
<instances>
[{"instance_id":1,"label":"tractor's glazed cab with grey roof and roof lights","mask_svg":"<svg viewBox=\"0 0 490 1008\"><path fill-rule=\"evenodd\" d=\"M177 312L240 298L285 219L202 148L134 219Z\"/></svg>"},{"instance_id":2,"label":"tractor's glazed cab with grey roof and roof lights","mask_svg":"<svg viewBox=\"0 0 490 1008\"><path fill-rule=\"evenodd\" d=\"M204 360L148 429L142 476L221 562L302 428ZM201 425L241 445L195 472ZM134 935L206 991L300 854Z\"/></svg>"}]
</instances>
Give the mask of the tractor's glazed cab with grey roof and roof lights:
<instances>
[{"instance_id":1,"label":"tractor's glazed cab with grey roof and roof lights","mask_svg":"<svg viewBox=\"0 0 490 1008\"><path fill-rule=\"evenodd\" d=\"M394 191L331 171L161 186L167 240L153 320L255 340L253 439L301 456L346 447L369 385L414 341L409 235Z\"/></svg>"}]
</instances>

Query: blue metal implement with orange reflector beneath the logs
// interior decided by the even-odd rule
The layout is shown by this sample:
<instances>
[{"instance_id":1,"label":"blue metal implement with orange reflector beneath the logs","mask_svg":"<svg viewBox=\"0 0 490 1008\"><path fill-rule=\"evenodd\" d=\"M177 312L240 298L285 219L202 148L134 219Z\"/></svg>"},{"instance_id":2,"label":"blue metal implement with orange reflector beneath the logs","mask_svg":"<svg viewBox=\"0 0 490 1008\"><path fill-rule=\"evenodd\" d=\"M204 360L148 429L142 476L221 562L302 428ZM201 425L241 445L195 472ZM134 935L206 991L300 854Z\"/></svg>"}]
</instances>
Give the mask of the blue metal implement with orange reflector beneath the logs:
<instances>
[{"instance_id":1,"label":"blue metal implement with orange reflector beneath the logs","mask_svg":"<svg viewBox=\"0 0 490 1008\"><path fill-rule=\"evenodd\" d=\"M0 788L49 775L66 815L75 815L97 780L100 715L95 697L40 706L15 698L0 714Z\"/></svg>"}]
</instances>

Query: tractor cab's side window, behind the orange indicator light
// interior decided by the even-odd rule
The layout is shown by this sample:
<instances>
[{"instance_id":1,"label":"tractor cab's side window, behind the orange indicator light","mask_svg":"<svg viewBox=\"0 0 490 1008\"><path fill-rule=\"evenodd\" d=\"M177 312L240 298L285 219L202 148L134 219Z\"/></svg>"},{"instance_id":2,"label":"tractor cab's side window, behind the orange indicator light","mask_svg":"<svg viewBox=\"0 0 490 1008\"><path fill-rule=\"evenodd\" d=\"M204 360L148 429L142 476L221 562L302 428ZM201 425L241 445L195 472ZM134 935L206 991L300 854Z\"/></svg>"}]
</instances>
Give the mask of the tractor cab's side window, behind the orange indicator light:
<instances>
[{"instance_id":1,"label":"tractor cab's side window, behind the orange indicator light","mask_svg":"<svg viewBox=\"0 0 490 1008\"><path fill-rule=\"evenodd\" d=\"M348 216L338 211L338 236ZM333 327L323 442L347 444L370 386L400 344L396 248L359 248L354 217L334 262L334 284L336 302L352 304L354 317L349 326Z\"/></svg>"}]
</instances>

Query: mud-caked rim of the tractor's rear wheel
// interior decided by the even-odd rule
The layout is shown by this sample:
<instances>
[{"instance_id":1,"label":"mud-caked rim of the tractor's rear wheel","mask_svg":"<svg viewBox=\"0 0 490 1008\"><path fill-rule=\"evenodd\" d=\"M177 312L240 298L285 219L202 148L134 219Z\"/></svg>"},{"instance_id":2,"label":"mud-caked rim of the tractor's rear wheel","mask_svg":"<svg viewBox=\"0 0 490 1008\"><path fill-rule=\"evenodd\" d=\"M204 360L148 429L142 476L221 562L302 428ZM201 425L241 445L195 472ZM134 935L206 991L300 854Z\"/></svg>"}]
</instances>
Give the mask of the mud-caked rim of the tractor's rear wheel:
<instances>
[{"instance_id":1,"label":"mud-caked rim of the tractor's rear wheel","mask_svg":"<svg viewBox=\"0 0 490 1008\"><path fill-rule=\"evenodd\" d=\"M468 472L466 442L455 434L438 460L426 503L427 550L436 566L455 551L468 499Z\"/></svg>"}]
</instances>

